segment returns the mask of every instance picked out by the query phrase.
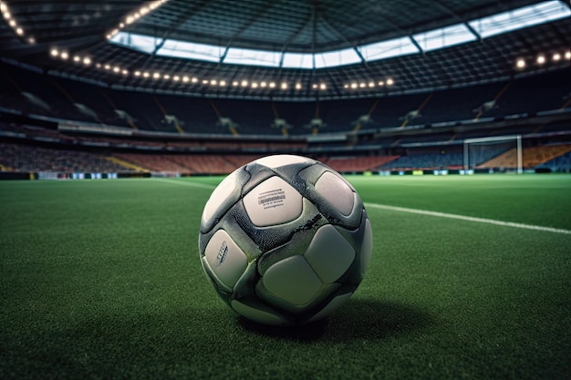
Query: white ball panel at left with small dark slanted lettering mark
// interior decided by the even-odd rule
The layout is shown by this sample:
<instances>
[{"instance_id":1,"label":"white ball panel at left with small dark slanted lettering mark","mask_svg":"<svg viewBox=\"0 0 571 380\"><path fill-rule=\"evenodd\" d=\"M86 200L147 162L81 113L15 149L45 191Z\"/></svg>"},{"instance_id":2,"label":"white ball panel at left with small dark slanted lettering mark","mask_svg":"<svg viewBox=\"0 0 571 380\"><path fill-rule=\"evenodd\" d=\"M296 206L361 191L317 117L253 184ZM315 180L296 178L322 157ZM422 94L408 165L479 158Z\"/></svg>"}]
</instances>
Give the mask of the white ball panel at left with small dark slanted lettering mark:
<instances>
[{"instance_id":1,"label":"white ball panel at left with small dark slanted lettering mark","mask_svg":"<svg viewBox=\"0 0 571 380\"><path fill-rule=\"evenodd\" d=\"M206 262L218 279L232 288L244 273L248 259L226 231L218 230L204 250Z\"/></svg>"}]
</instances>

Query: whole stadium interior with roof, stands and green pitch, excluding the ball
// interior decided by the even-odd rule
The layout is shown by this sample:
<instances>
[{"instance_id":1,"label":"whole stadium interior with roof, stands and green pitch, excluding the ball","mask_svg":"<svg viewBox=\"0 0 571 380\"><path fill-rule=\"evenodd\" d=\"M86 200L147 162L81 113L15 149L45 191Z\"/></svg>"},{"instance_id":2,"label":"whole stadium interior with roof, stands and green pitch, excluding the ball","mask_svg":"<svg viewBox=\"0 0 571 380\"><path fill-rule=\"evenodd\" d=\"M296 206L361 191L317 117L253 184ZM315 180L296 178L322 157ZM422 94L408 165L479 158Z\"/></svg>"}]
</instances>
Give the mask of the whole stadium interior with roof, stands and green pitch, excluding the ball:
<instances>
[{"instance_id":1,"label":"whole stadium interior with roof, stands and green pitch, excluding the ball","mask_svg":"<svg viewBox=\"0 0 571 380\"><path fill-rule=\"evenodd\" d=\"M566 379L571 5L0 3L0 377ZM204 277L226 175L317 159L369 270L255 324Z\"/></svg>"}]
</instances>

